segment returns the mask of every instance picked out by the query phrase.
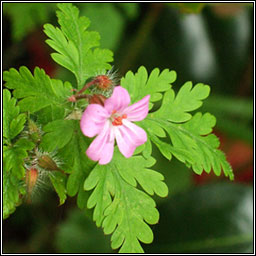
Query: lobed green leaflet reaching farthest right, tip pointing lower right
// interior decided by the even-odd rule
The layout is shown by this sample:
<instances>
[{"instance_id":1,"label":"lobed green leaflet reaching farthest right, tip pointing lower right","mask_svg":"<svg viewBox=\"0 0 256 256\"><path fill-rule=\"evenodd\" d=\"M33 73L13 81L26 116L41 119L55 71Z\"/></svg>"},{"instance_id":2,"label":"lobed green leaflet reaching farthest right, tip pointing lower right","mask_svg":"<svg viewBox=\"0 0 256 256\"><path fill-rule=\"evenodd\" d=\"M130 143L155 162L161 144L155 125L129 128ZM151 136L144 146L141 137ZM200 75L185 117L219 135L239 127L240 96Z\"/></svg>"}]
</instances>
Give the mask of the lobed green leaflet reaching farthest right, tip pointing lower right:
<instances>
[{"instance_id":1,"label":"lobed green leaflet reaching farthest right, tip pointing lower right","mask_svg":"<svg viewBox=\"0 0 256 256\"><path fill-rule=\"evenodd\" d=\"M170 136L174 151L172 154L180 161L192 166L195 173L214 171L219 176L221 169L231 180L233 171L222 151L218 150L219 140L214 134L207 135L215 125L214 116L197 113L184 124L174 124L163 119L148 118L149 122L158 123ZM175 151L176 150L176 151Z\"/></svg>"}]
</instances>

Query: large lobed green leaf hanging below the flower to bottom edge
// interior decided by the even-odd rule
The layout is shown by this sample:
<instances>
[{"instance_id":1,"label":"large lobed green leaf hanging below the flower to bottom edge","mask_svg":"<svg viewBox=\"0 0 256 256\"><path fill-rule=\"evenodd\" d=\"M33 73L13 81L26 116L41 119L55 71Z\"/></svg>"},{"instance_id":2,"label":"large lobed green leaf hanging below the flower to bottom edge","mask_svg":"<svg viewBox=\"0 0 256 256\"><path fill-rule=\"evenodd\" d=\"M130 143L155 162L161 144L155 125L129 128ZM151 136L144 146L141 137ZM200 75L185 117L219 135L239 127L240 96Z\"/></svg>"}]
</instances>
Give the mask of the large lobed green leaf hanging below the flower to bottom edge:
<instances>
[{"instance_id":1,"label":"large lobed green leaf hanging below the flower to bottom edge","mask_svg":"<svg viewBox=\"0 0 256 256\"><path fill-rule=\"evenodd\" d=\"M93 208L93 219L105 234L112 234L111 246L119 252L143 252L139 241L151 243L153 233L146 224L159 219L155 202L136 188L137 183L150 195L168 194L164 177L148 169L155 159L142 156L125 158L116 149L108 165L96 165L85 180L84 189L92 190L87 206Z\"/></svg>"}]
</instances>

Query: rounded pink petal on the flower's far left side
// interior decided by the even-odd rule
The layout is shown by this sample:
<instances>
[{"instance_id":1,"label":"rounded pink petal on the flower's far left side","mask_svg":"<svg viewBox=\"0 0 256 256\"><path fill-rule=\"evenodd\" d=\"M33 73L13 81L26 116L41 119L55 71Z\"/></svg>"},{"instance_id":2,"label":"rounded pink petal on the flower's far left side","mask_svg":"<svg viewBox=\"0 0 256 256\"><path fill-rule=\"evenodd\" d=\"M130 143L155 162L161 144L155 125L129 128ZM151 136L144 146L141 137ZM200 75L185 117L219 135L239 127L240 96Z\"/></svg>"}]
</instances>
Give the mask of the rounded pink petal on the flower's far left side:
<instances>
[{"instance_id":1,"label":"rounded pink petal on the flower's far left side","mask_svg":"<svg viewBox=\"0 0 256 256\"><path fill-rule=\"evenodd\" d=\"M80 121L80 128L83 134L88 137L94 137L99 134L108 117L108 112L101 105L90 104L84 111Z\"/></svg>"}]
</instances>

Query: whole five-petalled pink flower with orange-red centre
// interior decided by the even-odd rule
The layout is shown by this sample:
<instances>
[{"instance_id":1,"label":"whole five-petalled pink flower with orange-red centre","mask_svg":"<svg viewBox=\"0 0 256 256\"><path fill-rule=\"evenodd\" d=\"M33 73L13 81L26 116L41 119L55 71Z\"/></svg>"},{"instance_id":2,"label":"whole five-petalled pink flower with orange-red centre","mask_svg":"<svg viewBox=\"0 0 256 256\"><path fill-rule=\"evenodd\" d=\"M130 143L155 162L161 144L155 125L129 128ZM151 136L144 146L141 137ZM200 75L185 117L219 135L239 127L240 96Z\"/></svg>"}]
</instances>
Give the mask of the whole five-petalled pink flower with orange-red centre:
<instances>
[{"instance_id":1,"label":"whole five-petalled pink flower with orange-red centre","mask_svg":"<svg viewBox=\"0 0 256 256\"><path fill-rule=\"evenodd\" d=\"M131 106L126 89L117 86L104 107L90 104L83 113L80 127L84 135L97 137L86 151L89 158L107 164L111 161L115 139L120 152L131 157L136 147L147 141L146 132L132 121L141 121L148 114L150 95Z\"/></svg>"}]
</instances>

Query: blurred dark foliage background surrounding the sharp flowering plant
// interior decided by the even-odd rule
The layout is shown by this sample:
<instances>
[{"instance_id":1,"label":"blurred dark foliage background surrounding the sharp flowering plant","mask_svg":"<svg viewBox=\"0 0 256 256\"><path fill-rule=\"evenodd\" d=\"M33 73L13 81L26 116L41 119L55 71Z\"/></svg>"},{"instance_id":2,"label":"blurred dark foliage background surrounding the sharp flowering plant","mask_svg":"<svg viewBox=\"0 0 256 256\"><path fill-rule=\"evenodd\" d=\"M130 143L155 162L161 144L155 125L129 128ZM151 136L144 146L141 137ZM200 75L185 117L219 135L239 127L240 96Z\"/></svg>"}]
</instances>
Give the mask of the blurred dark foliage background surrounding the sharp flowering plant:
<instances>
[{"instance_id":1,"label":"blurred dark foliage background surrounding the sharp flowering plant","mask_svg":"<svg viewBox=\"0 0 256 256\"><path fill-rule=\"evenodd\" d=\"M90 18L101 46L114 52L120 77L143 65L173 69L174 90L185 81L211 86L202 112L217 118L214 132L231 163L235 181L195 175L154 149L155 170L166 177L168 198L155 198L160 223L147 253L253 252L253 4L77 3ZM57 25L55 3L3 3L3 70L44 68L74 81L55 65L42 25ZM156 85L157 86L157 85ZM95 226L91 211L75 199L58 207L42 185L30 204L3 222L4 253L113 253L110 237Z\"/></svg>"}]
</instances>

